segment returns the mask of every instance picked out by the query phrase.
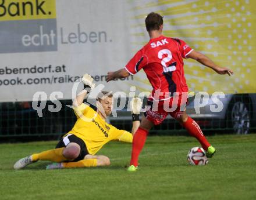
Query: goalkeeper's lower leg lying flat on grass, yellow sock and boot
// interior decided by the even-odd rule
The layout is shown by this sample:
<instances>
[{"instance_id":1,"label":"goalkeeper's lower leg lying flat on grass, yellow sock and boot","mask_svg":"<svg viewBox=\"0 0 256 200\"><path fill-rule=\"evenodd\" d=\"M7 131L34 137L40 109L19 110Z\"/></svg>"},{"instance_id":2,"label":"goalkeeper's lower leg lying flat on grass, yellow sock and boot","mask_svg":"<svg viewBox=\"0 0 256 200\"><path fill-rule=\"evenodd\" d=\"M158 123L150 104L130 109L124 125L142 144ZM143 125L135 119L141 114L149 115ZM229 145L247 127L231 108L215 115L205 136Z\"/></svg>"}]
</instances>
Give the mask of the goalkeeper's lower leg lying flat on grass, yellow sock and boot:
<instances>
[{"instance_id":1,"label":"goalkeeper's lower leg lying flat on grass, yellow sock and boot","mask_svg":"<svg viewBox=\"0 0 256 200\"><path fill-rule=\"evenodd\" d=\"M96 166L108 166L110 160L105 155L86 155L84 159L77 162L59 162L47 165L46 169L62 169L62 168L90 168Z\"/></svg>"}]
</instances>

